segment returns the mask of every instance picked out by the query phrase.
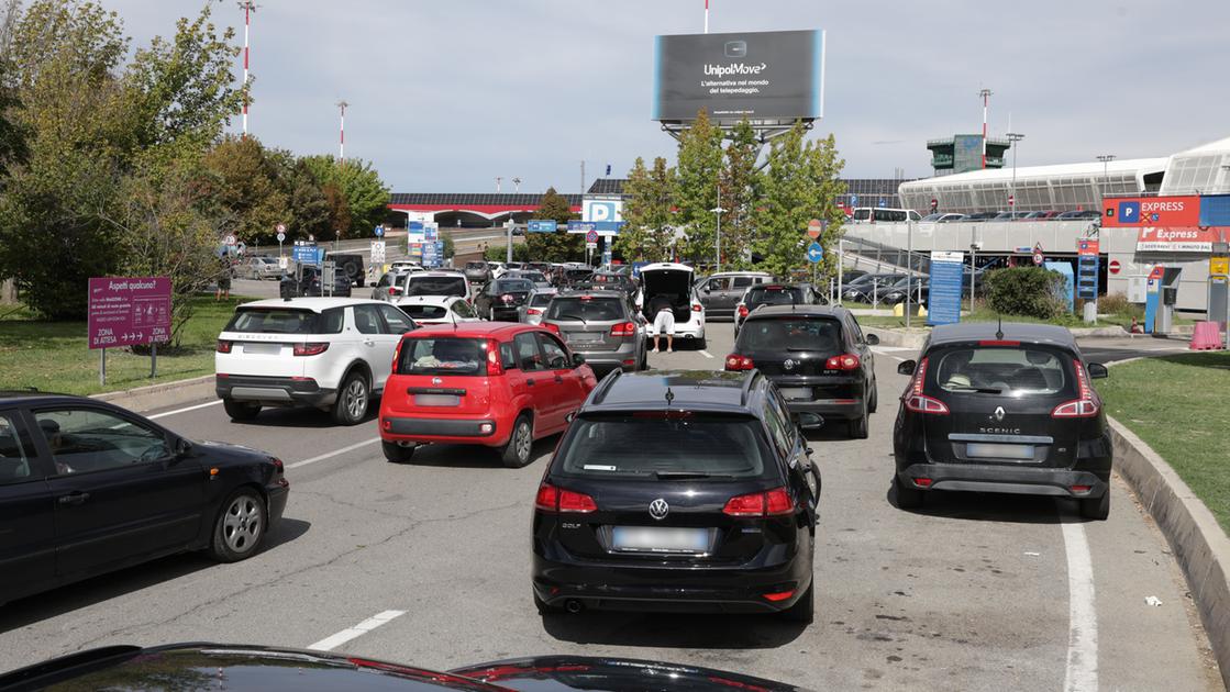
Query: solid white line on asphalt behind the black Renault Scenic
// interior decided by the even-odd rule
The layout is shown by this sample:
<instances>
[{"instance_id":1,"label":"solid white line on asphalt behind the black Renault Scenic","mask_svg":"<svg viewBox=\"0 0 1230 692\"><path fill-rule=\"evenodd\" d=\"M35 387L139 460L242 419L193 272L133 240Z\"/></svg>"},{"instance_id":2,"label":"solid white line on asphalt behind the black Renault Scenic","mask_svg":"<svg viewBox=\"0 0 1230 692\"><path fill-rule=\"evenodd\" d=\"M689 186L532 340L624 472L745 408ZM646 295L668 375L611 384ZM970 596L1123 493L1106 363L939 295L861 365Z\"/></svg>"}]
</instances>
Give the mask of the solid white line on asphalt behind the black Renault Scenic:
<instances>
[{"instance_id":1,"label":"solid white line on asphalt behind the black Renault Scenic","mask_svg":"<svg viewBox=\"0 0 1230 692\"><path fill-rule=\"evenodd\" d=\"M1111 492L1107 488L1106 492ZM1082 524L1061 524L1068 553L1066 692L1097 692L1097 608L1093 602L1093 560Z\"/></svg>"}]
</instances>

